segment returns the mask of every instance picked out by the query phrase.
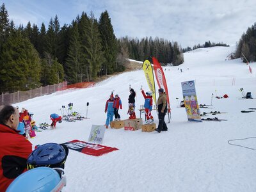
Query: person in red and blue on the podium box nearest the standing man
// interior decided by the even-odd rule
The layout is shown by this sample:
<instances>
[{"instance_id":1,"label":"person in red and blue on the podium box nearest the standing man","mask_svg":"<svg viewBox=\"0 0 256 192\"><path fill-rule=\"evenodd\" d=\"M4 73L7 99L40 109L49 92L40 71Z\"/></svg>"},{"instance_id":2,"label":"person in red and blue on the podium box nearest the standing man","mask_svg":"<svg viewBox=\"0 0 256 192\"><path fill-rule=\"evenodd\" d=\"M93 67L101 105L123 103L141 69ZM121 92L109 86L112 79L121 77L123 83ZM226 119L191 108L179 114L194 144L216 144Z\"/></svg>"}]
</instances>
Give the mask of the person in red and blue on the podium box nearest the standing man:
<instances>
[{"instance_id":1,"label":"person in red and blue on the podium box nearest the standing man","mask_svg":"<svg viewBox=\"0 0 256 192\"><path fill-rule=\"evenodd\" d=\"M154 118L151 115L152 106L153 106L153 99L152 99L152 93L147 92L145 94L144 90L141 88L141 93L145 99L144 102L144 108L145 108L145 116L147 118L146 124L152 124L154 122Z\"/></svg>"}]
</instances>

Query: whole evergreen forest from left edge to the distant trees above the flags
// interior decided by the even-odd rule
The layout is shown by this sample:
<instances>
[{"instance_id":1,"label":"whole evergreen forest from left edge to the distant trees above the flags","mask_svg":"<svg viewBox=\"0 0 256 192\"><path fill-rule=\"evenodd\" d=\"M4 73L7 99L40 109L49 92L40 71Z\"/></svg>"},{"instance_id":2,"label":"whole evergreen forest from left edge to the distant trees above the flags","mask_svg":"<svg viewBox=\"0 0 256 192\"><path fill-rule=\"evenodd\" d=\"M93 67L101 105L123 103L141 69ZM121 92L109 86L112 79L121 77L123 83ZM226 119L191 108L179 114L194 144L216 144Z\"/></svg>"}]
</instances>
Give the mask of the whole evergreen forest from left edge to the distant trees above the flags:
<instances>
[{"instance_id":1,"label":"whole evergreen forest from left edge to the distant trees above the flags","mask_svg":"<svg viewBox=\"0 0 256 192\"><path fill-rule=\"evenodd\" d=\"M47 84L95 81L125 70L126 58L161 63L183 63L177 42L150 37L116 38L107 10L99 21L82 13L71 24L60 26L58 16L40 27L28 22L15 27L0 7L0 93L24 91Z\"/></svg>"}]
</instances>

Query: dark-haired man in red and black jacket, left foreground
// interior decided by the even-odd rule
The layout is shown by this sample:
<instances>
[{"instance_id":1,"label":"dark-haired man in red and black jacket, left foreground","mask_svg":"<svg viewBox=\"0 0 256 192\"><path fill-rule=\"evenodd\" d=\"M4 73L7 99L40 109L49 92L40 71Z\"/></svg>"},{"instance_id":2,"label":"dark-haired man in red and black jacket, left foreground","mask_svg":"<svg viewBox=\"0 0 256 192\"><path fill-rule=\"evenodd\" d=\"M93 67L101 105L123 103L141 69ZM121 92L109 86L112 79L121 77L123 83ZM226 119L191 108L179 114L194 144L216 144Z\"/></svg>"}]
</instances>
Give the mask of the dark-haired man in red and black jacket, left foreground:
<instances>
[{"instance_id":1,"label":"dark-haired man in red and black jacket, left foreground","mask_svg":"<svg viewBox=\"0 0 256 192\"><path fill-rule=\"evenodd\" d=\"M0 191L5 191L16 177L26 172L32 152L32 144L17 131L18 124L18 109L0 108Z\"/></svg>"}]
</instances>

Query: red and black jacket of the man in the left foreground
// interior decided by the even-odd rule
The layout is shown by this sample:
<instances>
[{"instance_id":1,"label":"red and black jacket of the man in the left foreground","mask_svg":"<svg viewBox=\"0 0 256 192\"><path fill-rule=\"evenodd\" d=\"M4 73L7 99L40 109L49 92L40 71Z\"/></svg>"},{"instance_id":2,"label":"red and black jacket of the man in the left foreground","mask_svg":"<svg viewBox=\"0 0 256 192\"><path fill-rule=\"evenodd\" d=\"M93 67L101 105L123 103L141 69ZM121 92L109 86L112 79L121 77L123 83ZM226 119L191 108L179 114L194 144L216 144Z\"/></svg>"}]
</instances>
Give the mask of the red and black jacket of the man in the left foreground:
<instances>
[{"instance_id":1,"label":"red and black jacket of the man in the left foreground","mask_svg":"<svg viewBox=\"0 0 256 192\"><path fill-rule=\"evenodd\" d=\"M18 131L2 124L0 138L0 191L5 191L16 177L26 172L32 144Z\"/></svg>"}]
</instances>

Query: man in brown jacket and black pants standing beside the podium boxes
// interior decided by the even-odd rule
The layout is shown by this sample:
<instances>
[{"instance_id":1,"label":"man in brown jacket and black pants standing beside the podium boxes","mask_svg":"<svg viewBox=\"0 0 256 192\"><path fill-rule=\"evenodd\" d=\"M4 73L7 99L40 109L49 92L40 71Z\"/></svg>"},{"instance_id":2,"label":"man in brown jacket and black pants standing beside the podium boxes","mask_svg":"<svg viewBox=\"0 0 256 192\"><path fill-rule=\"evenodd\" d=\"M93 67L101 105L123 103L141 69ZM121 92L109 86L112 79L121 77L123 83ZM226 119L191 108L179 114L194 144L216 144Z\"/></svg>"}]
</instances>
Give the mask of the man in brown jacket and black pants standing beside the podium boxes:
<instances>
[{"instance_id":1,"label":"man in brown jacket and black pants standing beside the podium boxes","mask_svg":"<svg viewBox=\"0 0 256 192\"><path fill-rule=\"evenodd\" d=\"M157 111L158 111L158 127L155 129L157 132L161 131L168 131L168 128L164 122L164 116L167 112L167 99L166 99L166 93L164 93L164 89L160 88L158 90L159 97L157 99Z\"/></svg>"}]
</instances>

